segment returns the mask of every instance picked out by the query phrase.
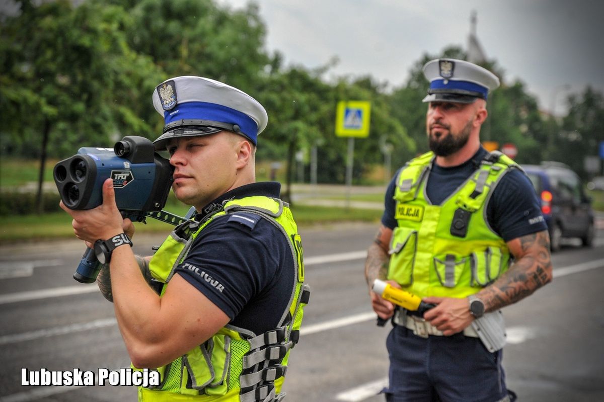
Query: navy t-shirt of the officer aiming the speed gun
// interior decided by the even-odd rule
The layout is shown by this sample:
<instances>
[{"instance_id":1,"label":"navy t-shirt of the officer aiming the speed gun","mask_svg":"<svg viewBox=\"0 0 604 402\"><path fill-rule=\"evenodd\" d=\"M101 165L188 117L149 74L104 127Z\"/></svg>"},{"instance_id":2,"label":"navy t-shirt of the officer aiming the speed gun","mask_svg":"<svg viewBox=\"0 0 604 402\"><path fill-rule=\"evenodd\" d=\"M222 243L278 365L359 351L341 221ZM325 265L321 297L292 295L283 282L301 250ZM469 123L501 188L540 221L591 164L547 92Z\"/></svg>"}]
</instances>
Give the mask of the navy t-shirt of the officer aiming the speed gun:
<instances>
[{"instance_id":1,"label":"navy t-shirt of the officer aiming the speed gun","mask_svg":"<svg viewBox=\"0 0 604 402\"><path fill-rule=\"evenodd\" d=\"M205 207L205 216L223 200L278 198L279 192L276 182L238 187ZM205 216L198 214L196 219ZM288 239L268 220L246 212L216 217L209 223L193 241L176 273L224 311L231 325L257 334L280 324L295 286Z\"/></svg>"}]
</instances>

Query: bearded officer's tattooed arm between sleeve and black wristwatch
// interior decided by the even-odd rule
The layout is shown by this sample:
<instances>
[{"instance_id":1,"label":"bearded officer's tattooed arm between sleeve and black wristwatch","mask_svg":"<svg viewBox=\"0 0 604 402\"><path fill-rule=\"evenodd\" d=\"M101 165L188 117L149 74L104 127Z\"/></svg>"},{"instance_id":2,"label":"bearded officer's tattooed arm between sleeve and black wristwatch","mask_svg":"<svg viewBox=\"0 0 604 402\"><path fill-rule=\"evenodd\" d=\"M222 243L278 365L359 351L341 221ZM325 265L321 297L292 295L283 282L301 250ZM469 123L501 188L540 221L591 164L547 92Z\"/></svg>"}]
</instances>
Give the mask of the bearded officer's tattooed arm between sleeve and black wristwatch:
<instances>
[{"instance_id":1,"label":"bearded officer's tattooed arm between sleeve and black wristwatch","mask_svg":"<svg viewBox=\"0 0 604 402\"><path fill-rule=\"evenodd\" d=\"M486 311L498 310L518 302L535 290L551 282L550 241L547 232L538 232L519 238L522 257L506 273L477 296Z\"/></svg>"}]
</instances>

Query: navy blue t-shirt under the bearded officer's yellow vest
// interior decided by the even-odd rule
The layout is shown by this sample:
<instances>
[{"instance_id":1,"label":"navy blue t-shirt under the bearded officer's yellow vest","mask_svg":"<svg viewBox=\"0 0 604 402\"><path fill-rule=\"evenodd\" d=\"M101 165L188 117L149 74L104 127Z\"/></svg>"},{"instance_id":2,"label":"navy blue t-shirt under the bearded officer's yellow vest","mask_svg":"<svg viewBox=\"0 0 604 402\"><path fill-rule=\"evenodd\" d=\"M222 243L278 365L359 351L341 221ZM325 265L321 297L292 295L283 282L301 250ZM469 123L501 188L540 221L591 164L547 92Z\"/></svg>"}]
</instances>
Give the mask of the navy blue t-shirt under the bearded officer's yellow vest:
<instances>
[{"instance_id":1,"label":"navy blue t-shirt under the bearded officer's yellow vest","mask_svg":"<svg viewBox=\"0 0 604 402\"><path fill-rule=\"evenodd\" d=\"M480 147L469 161L461 165L440 167L434 163L426 185L429 202L432 205L442 205L443 201L480 167L480 162L486 155L487 150ZM393 197L399 171L388 185L384 200L382 224L390 229L397 226L394 219L396 202ZM486 212L490 227L504 241L547 230L535 189L528 177L518 169L511 169L501 177L488 200Z\"/></svg>"}]
</instances>

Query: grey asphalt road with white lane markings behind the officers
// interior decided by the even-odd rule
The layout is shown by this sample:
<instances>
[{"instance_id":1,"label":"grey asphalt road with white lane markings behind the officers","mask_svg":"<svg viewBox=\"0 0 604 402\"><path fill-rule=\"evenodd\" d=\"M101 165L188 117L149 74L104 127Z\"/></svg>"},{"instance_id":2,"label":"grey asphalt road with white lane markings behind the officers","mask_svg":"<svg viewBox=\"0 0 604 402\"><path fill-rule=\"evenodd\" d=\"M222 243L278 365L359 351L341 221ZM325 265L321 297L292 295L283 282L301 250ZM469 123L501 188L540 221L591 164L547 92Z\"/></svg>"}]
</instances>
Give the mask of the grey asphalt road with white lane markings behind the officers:
<instances>
[{"instance_id":1,"label":"grey asphalt road with white lane markings behind the officers","mask_svg":"<svg viewBox=\"0 0 604 402\"><path fill-rule=\"evenodd\" d=\"M292 351L286 401L383 401L387 328L375 325L362 274L374 225L301 231L312 287ZM158 236L135 237L149 254ZM71 279L77 240L0 247L0 402L133 401L127 386L22 386L21 369L129 367L112 304ZM604 231L596 247L554 254L554 281L507 307L508 387L521 401L604 400Z\"/></svg>"}]
</instances>

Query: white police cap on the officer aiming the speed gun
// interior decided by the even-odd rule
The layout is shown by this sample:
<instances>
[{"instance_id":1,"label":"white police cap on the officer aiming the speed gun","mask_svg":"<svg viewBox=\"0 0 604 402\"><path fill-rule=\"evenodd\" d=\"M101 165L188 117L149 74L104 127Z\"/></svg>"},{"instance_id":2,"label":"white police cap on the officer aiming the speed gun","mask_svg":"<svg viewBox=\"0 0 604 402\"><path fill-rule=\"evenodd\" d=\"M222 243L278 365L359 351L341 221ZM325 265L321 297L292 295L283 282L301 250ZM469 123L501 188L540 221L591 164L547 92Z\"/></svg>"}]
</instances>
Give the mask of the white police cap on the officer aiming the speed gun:
<instances>
[{"instance_id":1,"label":"white police cap on the officer aiming the speed gun","mask_svg":"<svg viewBox=\"0 0 604 402\"><path fill-rule=\"evenodd\" d=\"M164 132L153 141L165 149L170 138L229 130L256 145L268 115L262 105L237 88L210 78L184 75L165 80L153 92L153 107L164 116Z\"/></svg>"}]
</instances>

